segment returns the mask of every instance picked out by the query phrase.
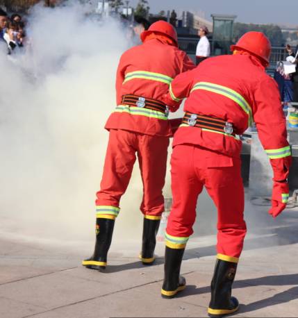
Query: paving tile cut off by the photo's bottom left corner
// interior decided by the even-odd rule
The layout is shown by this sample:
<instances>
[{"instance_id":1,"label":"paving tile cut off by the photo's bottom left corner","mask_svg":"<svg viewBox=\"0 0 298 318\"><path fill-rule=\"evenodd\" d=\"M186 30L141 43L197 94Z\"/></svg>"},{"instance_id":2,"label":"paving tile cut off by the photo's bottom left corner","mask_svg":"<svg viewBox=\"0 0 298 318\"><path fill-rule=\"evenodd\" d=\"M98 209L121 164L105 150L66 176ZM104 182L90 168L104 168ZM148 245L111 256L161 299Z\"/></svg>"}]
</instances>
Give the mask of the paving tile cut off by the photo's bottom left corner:
<instances>
[{"instance_id":1,"label":"paving tile cut off by the photo's bottom left corner","mask_svg":"<svg viewBox=\"0 0 298 318\"><path fill-rule=\"evenodd\" d=\"M0 298L0 317L21 318L44 311L40 306L33 306L30 303L22 303L13 299Z\"/></svg>"}]
</instances>

